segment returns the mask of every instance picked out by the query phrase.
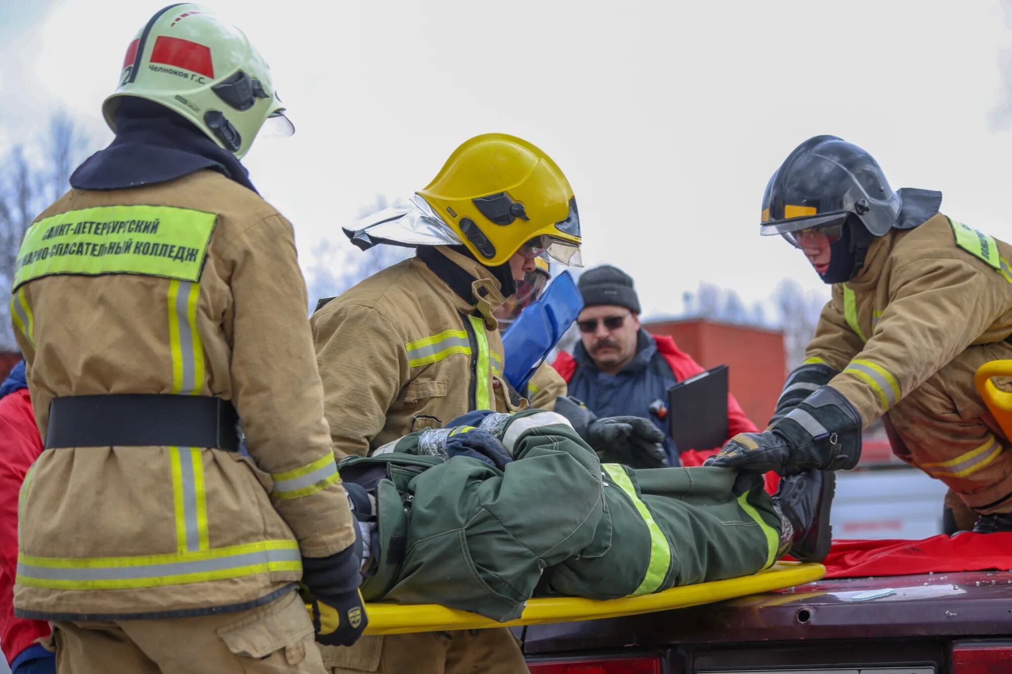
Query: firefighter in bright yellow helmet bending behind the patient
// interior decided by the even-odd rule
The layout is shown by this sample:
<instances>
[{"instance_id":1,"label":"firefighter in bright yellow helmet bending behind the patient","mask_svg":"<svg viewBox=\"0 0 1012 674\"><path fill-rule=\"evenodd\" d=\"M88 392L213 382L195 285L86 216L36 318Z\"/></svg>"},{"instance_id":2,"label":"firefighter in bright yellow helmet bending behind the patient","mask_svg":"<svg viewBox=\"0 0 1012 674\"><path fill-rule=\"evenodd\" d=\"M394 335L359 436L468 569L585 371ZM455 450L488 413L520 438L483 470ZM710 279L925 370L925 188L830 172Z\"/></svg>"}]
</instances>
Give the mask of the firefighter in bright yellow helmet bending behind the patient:
<instances>
[{"instance_id":1,"label":"firefighter in bright yellow helmet bending behind the patient","mask_svg":"<svg viewBox=\"0 0 1012 674\"><path fill-rule=\"evenodd\" d=\"M311 319L337 455L364 455L472 410L517 409L502 377L495 312L536 273L539 255L580 264L576 199L556 163L521 139L479 136L409 203L345 232L363 249L393 244L417 254ZM505 628L365 637L324 649L324 661L339 674L527 671Z\"/></svg>"}]
</instances>

